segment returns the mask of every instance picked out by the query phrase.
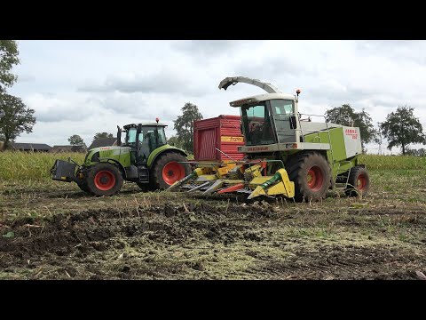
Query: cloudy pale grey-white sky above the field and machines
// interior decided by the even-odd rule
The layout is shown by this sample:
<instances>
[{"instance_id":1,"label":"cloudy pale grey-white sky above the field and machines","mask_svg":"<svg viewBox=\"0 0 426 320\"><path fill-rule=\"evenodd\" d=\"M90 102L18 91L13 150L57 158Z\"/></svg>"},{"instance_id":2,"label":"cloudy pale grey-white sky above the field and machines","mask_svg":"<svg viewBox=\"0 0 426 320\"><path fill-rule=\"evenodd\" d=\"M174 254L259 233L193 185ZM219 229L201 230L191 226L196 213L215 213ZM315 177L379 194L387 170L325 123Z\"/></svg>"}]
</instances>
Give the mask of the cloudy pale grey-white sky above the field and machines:
<instances>
[{"instance_id":1,"label":"cloudy pale grey-white sky above the field and machines","mask_svg":"<svg viewBox=\"0 0 426 320\"><path fill-rule=\"evenodd\" d=\"M9 92L36 110L37 122L17 142L67 145L79 134L89 146L96 132L115 134L117 124L156 116L169 124L170 137L185 102L204 118L239 115L229 101L264 93L249 84L219 91L226 76L257 78L291 94L300 88L299 111L307 114L348 103L366 108L376 124L411 106L426 128L426 41L26 40L18 47L19 80ZM378 152L373 144L367 149Z\"/></svg>"}]
</instances>

